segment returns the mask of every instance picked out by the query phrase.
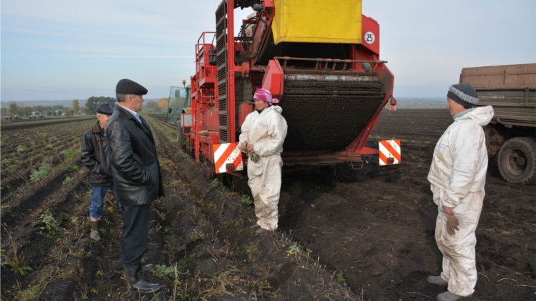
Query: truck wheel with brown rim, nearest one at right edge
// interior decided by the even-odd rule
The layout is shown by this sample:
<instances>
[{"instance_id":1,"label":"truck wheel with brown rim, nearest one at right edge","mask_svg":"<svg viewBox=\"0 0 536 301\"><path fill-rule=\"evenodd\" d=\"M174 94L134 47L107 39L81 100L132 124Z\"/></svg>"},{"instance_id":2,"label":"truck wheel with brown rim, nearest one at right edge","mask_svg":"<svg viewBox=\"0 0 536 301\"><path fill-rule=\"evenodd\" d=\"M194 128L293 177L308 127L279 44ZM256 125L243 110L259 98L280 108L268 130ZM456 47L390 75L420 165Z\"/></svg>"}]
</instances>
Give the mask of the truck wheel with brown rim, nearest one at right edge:
<instances>
[{"instance_id":1,"label":"truck wheel with brown rim, nearest one at right edge","mask_svg":"<svg viewBox=\"0 0 536 301\"><path fill-rule=\"evenodd\" d=\"M508 183L536 183L536 142L528 137L515 137L504 142L497 165Z\"/></svg>"}]
</instances>

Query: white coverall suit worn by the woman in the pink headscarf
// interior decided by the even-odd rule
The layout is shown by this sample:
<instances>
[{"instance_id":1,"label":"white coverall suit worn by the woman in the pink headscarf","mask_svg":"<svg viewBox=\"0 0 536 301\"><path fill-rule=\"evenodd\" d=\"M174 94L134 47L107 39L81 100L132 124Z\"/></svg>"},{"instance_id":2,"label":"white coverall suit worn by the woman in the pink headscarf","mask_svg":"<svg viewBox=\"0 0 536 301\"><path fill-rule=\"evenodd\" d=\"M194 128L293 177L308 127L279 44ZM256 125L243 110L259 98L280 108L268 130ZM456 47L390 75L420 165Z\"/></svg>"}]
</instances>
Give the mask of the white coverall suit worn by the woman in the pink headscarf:
<instances>
[{"instance_id":1,"label":"white coverall suit worn by the woman in the pink headscarf","mask_svg":"<svg viewBox=\"0 0 536 301\"><path fill-rule=\"evenodd\" d=\"M281 152L287 125L281 116L281 106L269 106L261 113L253 111L246 116L240 133L240 143L253 145L260 160L248 159L248 184L255 201L257 224L274 231L277 229L277 204L281 193Z\"/></svg>"}]
</instances>

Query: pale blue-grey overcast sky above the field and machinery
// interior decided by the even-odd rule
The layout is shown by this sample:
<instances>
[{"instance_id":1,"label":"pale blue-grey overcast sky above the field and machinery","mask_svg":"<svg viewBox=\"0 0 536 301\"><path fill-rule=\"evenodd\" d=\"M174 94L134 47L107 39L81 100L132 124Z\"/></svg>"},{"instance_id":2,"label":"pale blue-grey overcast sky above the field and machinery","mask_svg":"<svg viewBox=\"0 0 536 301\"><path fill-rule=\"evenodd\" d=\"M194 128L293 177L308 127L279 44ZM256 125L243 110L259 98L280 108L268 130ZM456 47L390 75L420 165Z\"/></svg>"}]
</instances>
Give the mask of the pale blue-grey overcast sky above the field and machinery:
<instances>
[{"instance_id":1,"label":"pale blue-grey overcast sky above the field and machinery","mask_svg":"<svg viewBox=\"0 0 536 301\"><path fill-rule=\"evenodd\" d=\"M1 100L114 97L121 78L167 97L194 73L219 2L1 1ZM463 67L536 63L534 0L363 0L363 14L396 97L444 97Z\"/></svg>"}]
</instances>

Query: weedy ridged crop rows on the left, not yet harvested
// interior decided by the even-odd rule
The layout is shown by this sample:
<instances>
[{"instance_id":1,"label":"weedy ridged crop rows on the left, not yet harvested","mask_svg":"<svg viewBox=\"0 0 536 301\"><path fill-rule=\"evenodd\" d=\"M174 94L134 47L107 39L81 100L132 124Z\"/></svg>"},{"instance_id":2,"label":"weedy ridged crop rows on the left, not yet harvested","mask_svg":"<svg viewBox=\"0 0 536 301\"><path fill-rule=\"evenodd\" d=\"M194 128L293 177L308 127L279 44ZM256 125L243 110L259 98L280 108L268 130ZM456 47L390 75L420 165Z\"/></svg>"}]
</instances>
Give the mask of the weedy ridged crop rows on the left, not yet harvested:
<instances>
[{"instance_id":1,"label":"weedy ridged crop rows on the left, not yet harvested","mask_svg":"<svg viewBox=\"0 0 536 301\"><path fill-rule=\"evenodd\" d=\"M112 195L104 202L103 240L89 238L90 184L79 161L83 132L95 122L87 121L35 133L2 131L3 158L25 155L8 163L26 167L25 172L13 167L5 173L20 181L16 188L12 184L6 193L2 190L1 300L358 300L337 280L336 271L288 233L255 235L249 228L254 223L251 200L205 178L200 166L178 149L176 130L147 119L157 141L166 197L151 207L144 259L155 266L145 278L165 283L164 289L154 295L128 290L119 253L122 218ZM51 135L64 143L49 142ZM43 142L28 148L25 136ZM9 141L11 137L18 140ZM24 152L17 151L19 144ZM26 158L38 154L28 163ZM42 166L49 166L47 172L32 177Z\"/></svg>"}]
</instances>

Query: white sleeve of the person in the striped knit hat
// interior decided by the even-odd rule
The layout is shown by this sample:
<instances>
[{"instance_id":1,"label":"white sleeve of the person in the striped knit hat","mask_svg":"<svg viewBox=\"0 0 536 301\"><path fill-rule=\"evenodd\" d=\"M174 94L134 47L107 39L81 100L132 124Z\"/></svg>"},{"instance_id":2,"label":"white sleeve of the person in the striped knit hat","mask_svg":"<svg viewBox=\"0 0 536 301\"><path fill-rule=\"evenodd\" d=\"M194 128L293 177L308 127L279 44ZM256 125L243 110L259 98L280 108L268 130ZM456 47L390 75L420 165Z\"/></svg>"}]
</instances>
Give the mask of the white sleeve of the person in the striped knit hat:
<instances>
[{"instance_id":1,"label":"white sleeve of the person in the striped knit hat","mask_svg":"<svg viewBox=\"0 0 536 301\"><path fill-rule=\"evenodd\" d=\"M453 135L452 142L452 172L449 185L442 204L446 207L456 207L461 199L467 197L470 188L475 183L481 130L476 123L463 127Z\"/></svg>"}]
</instances>

